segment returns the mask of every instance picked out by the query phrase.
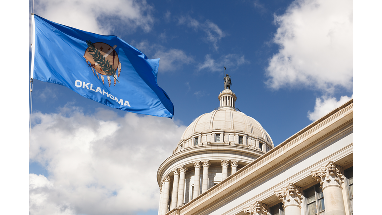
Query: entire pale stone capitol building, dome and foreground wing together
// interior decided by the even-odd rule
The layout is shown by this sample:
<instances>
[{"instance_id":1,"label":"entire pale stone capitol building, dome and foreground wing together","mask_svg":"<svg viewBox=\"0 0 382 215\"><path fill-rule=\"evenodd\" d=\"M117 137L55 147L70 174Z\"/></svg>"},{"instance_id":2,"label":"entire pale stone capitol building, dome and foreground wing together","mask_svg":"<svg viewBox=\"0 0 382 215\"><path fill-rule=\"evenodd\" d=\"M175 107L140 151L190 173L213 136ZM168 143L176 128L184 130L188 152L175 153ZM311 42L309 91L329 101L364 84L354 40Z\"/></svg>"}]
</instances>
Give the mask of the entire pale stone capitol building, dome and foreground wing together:
<instances>
[{"instance_id":1,"label":"entire pale stone capitol building, dome and foreground wing together","mask_svg":"<svg viewBox=\"0 0 382 215\"><path fill-rule=\"evenodd\" d=\"M353 215L353 99L277 146L218 99L160 165L158 215Z\"/></svg>"}]
</instances>

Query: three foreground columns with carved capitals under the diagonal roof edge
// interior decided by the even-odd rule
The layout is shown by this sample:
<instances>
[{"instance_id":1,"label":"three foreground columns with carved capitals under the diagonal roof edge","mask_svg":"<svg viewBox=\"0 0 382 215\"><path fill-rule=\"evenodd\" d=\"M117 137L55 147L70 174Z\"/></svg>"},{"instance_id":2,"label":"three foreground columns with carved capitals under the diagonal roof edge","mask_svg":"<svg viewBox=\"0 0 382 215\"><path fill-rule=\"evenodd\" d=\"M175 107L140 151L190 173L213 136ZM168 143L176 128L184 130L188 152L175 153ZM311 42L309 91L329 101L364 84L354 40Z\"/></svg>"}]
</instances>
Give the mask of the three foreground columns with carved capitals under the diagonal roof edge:
<instances>
[{"instance_id":1,"label":"three foreground columns with carved capitals under the diagonal roof edge","mask_svg":"<svg viewBox=\"0 0 382 215\"><path fill-rule=\"evenodd\" d=\"M311 171L312 177L320 182L324 194L325 215L345 215L345 204L342 195L343 170L332 161L318 170ZM293 183L275 191L276 197L282 201L285 215L301 215L303 200L302 188ZM256 201L244 208L246 215L267 215L268 205ZM305 214L305 213L304 213Z\"/></svg>"}]
</instances>

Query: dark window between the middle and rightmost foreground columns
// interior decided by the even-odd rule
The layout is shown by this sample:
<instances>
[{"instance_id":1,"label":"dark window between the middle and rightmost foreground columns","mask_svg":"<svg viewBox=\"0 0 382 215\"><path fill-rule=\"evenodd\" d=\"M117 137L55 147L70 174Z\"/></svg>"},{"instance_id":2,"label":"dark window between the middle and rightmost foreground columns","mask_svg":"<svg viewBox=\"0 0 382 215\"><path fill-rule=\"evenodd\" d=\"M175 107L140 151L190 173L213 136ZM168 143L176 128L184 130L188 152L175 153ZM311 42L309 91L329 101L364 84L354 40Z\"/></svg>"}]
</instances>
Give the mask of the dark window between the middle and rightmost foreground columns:
<instances>
[{"instance_id":1,"label":"dark window between the middle and rightmost foreground columns","mask_svg":"<svg viewBox=\"0 0 382 215\"><path fill-rule=\"evenodd\" d=\"M317 211L322 212L325 210L324 194L320 188L320 184L304 190L304 196L306 198L308 215L315 215Z\"/></svg>"}]
</instances>

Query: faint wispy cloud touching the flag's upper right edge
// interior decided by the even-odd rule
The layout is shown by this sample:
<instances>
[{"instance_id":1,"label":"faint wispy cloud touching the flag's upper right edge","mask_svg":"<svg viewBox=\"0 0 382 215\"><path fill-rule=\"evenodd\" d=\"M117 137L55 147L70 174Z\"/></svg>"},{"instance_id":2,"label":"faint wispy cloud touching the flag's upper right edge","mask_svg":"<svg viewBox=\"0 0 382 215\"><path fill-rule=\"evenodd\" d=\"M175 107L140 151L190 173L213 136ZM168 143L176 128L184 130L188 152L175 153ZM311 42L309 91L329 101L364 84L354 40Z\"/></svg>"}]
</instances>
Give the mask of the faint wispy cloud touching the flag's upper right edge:
<instances>
[{"instance_id":1,"label":"faint wispy cloud touching the flag's upper right edge","mask_svg":"<svg viewBox=\"0 0 382 215\"><path fill-rule=\"evenodd\" d=\"M160 58L159 72L180 70L183 65L194 62L192 56L187 55L180 49L167 49L157 44L151 45L145 40L139 43L132 41L130 44L146 55L152 56L152 58Z\"/></svg>"}]
</instances>

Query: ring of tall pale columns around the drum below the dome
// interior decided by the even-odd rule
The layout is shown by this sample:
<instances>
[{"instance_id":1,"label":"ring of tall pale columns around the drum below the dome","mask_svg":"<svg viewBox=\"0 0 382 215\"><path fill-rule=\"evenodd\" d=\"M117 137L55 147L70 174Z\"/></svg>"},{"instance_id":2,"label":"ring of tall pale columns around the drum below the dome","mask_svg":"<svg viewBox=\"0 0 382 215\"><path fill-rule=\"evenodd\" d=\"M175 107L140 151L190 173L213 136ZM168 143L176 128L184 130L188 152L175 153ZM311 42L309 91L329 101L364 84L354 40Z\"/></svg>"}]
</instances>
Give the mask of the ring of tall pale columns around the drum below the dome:
<instances>
[{"instance_id":1,"label":"ring of tall pale columns around the drum below the dome","mask_svg":"<svg viewBox=\"0 0 382 215\"><path fill-rule=\"evenodd\" d=\"M221 160L221 165L223 169L222 181L228 177L228 166L231 164L231 174L234 174L237 170L238 161L236 160ZM196 198L200 195L200 169L203 168L203 181L201 187L201 193L204 193L208 190L208 173L211 163L209 160L202 160L193 162L195 167L195 176L194 176L194 188L193 188L193 198ZM185 175L188 168L185 165L175 168L173 172L173 189L171 193L171 203L168 205L170 198L170 181L171 177L166 175L161 182L160 187L160 201L159 201L159 210L158 215L164 215L169 210L173 210L176 207L182 206L184 199L184 187L185 187Z\"/></svg>"}]
</instances>

